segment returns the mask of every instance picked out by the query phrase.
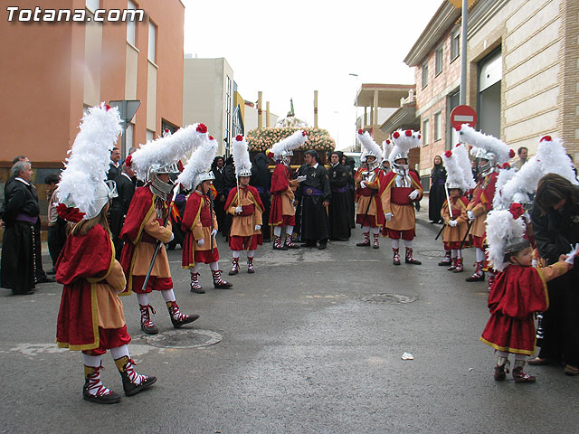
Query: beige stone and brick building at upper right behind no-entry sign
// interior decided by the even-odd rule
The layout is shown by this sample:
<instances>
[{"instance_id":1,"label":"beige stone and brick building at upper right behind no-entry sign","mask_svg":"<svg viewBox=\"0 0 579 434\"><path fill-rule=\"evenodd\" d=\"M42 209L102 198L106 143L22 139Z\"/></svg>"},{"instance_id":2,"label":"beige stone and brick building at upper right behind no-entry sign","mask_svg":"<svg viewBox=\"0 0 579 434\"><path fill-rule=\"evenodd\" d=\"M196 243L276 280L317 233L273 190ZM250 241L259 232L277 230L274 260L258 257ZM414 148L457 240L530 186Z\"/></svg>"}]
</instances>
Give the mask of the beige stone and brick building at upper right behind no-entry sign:
<instances>
[{"instance_id":1,"label":"beige stone and brick building at upper right behind no-entry sign","mask_svg":"<svg viewBox=\"0 0 579 434\"><path fill-rule=\"evenodd\" d=\"M478 128L517 150L536 152L540 137L561 137L579 157L579 2L478 0L469 11L467 105ZM459 105L460 9L442 2L404 62L416 80L422 130L420 174L457 141L450 126Z\"/></svg>"}]
</instances>

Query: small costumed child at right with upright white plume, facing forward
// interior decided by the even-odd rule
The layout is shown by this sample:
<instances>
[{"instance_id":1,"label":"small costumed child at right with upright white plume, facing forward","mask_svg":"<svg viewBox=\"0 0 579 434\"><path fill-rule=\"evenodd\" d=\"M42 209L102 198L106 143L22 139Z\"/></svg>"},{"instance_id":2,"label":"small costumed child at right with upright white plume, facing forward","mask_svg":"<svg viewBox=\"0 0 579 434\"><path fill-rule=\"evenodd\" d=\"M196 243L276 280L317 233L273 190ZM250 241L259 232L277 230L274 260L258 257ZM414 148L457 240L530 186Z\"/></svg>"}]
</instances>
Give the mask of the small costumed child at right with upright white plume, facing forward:
<instances>
[{"instance_id":1,"label":"small costumed child at right with upright white plume, facing forward","mask_svg":"<svg viewBox=\"0 0 579 434\"><path fill-rule=\"evenodd\" d=\"M460 273L463 271L460 245L469 230L467 215L469 200L464 192L474 187L474 179L470 169L466 174L463 170L463 167L468 168L470 165L469 153L465 146L459 144L453 151L446 151L442 157L442 163L447 173L444 188L447 189L448 195L441 208L441 216L445 224L442 231L445 257L438 265L449 265L449 271ZM451 206L450 211L449 206Z\"/></svg>"}]
</instances>

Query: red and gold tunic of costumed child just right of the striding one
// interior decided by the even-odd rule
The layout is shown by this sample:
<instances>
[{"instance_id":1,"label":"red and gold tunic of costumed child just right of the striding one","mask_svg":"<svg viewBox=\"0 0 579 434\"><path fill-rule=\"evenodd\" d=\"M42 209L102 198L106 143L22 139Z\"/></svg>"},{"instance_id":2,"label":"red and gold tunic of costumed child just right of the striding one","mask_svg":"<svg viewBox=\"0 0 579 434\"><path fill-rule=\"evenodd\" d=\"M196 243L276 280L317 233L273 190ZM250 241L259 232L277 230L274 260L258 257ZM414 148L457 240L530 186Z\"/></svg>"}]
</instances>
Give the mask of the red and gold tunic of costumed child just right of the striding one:
<instances>
[{"instance_id":1,"label":"red and gold tunic of costumed child just right of the striding one","mask_svg":"<svg viewBox=\"0 0 579 434\"><path fill-rule=\"evenodd\" d=\"M217 240L211 237L211 231L218 229L217 217L211 211L209 197L199 190L189 194L181 227L185 231L181 260L184 269L192 269L195 262L212 263L219 260ZM203 246L199 246L199 240L204 240Z\"/></svg>"}]
</instances>

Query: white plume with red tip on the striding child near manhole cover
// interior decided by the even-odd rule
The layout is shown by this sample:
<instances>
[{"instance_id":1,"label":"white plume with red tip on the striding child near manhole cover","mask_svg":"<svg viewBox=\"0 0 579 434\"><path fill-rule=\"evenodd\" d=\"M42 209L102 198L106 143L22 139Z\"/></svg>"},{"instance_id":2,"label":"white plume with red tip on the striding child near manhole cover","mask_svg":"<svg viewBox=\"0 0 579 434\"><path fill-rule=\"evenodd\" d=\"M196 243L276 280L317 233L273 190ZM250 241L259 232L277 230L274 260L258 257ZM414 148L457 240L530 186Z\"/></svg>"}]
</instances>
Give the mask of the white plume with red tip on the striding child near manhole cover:
<instances>
[{"instance_id":1,"label":"white plume with red tip on the striding child near manhole cover","mask_svg":"<svg viewBox=\"0 0 579 434\"><path fill-rule=\"evenodd\" d=\"M179 128L174 134L158 137L147 142L131 156L131 167L141 181L147 180L151 165L175 163L200 146L207 137L207 127L203 124Z\"/></svg>"}]
</instances>

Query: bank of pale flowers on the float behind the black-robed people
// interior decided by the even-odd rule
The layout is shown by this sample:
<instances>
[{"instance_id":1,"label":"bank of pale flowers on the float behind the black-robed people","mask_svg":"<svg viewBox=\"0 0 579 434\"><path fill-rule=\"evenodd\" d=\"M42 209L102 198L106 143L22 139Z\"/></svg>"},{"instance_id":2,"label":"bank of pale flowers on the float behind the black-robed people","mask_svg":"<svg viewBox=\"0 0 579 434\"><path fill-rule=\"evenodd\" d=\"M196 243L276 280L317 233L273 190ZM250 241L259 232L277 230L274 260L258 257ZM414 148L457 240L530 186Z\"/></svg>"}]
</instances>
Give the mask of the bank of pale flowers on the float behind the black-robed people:
<instances>
[{"instance_id":1,"label":"bank of pale flowers on the float behind the black-robed people","mask_svg":"<svg viewBox=\"0 0 579 434\"><path fill-rule=\"evenodd\" d=\"M299 146L299 151L315 149L317 151L333 151L336 142L326 129L316 129L310 127L274 127L274 128L254 128L247 135L249 150L251 152L265 152L271 146L280 142L294 132L303 130L308 135L308 140L303 146Z\"/></svg>"}]
</instances>

